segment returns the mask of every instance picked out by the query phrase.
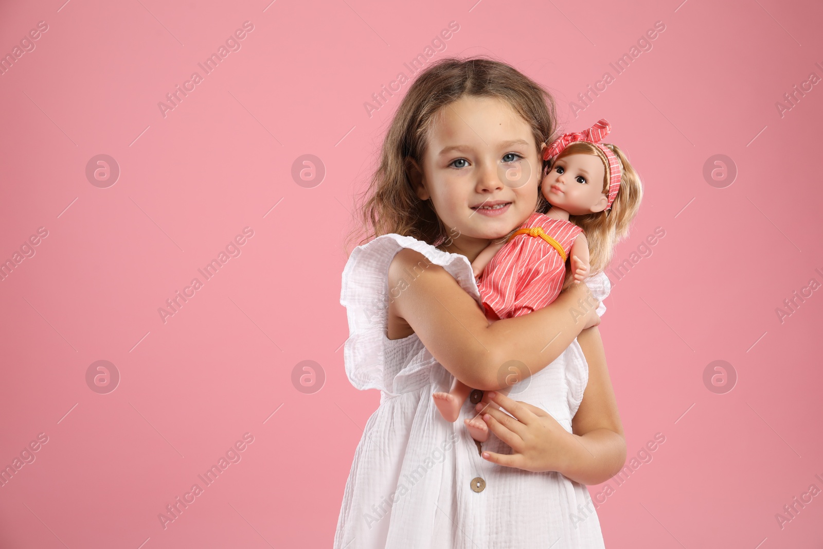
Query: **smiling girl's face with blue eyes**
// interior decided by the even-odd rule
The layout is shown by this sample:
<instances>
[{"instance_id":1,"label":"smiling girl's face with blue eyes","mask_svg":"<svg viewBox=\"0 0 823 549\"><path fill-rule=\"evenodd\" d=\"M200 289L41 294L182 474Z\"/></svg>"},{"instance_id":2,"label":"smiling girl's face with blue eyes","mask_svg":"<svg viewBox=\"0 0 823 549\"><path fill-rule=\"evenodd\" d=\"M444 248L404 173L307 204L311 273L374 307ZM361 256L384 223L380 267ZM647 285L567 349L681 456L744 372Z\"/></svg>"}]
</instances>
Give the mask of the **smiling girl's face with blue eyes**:
<instances>
[{"instance_id":1,"label":"smiling girl's face with blue eyes","mask_svg":"<svg viewBox=\"0 0 823 549\"><path fill-rule=\"evenodd\" d=\"M463 254L507 235L537 205L542 163L532 128L503 100L464 95L447 105L422 165L410 162L417 196L432 201Z\"/></svg>"}]
</instances>

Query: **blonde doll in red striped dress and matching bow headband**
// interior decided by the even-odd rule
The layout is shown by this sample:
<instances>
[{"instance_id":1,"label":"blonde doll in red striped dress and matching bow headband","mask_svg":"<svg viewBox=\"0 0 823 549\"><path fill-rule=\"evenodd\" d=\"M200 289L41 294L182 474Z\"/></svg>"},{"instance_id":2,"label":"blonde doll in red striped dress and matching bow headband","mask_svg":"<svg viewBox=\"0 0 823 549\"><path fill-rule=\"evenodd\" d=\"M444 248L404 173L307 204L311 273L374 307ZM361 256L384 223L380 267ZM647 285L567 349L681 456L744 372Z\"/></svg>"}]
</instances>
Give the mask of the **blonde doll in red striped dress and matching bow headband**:
<instances>
[{"instance_id":1,"label":"blonde doll in red striped dress and matching bow headband","mask_svg":"<svg viewBox=\"0 0 823 549\"><path fill-rule=\"evenodd\" d=\"M472 271L481 277L478 288L486 317L510 319L549 305L560 294L569 256L568 278L575 283L590 273L589 248L596 256L595 273L608 264L642 194L639 177L620 149L600 143L610 130L601 119L543 149L543 160L551 160L551 165L541 184L542 196L551 210L532 213L506 240L489 244L472 262ZM578 224L590 228L590 240ZM435 405L446 420L456 421L471 392L455 379L449 393L433 395ZM489 436L486 422L477 417L466 426L475 440L485 442Z\"/></svg>"}]
</instances>

